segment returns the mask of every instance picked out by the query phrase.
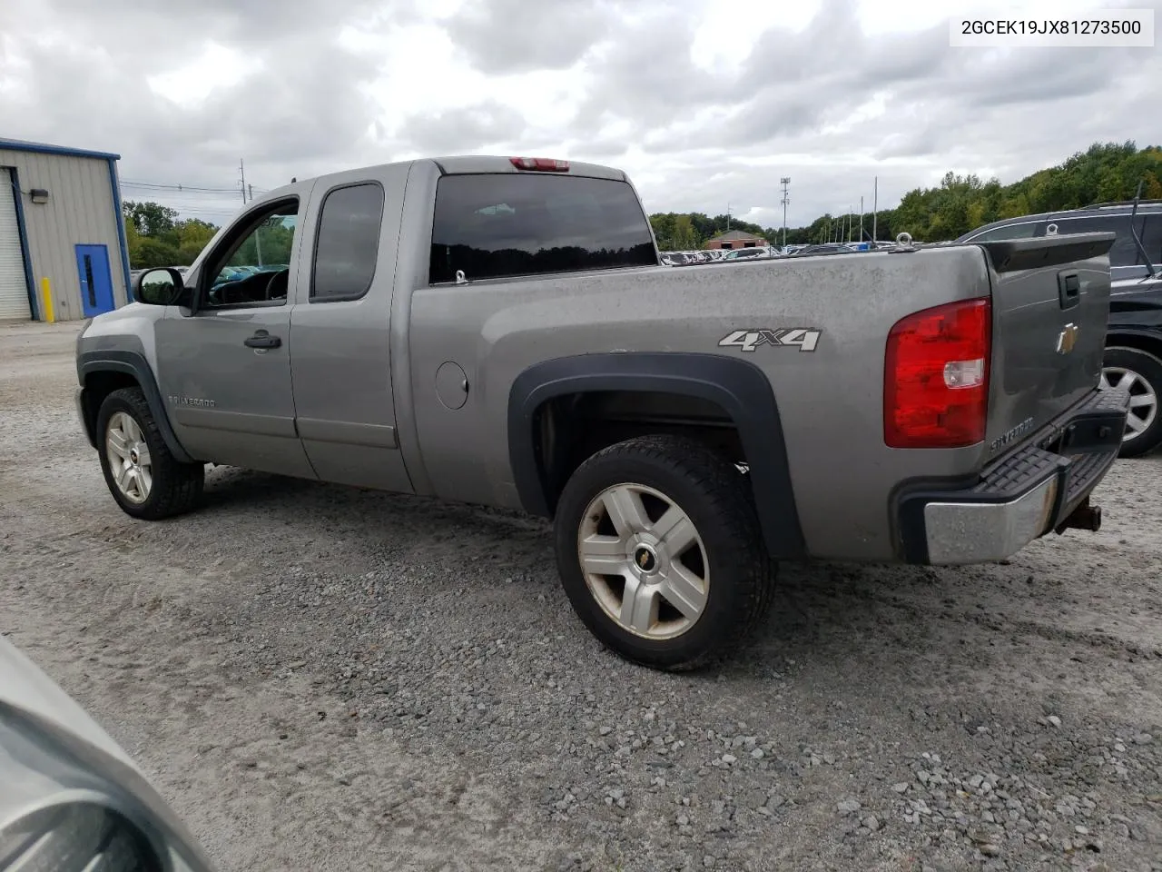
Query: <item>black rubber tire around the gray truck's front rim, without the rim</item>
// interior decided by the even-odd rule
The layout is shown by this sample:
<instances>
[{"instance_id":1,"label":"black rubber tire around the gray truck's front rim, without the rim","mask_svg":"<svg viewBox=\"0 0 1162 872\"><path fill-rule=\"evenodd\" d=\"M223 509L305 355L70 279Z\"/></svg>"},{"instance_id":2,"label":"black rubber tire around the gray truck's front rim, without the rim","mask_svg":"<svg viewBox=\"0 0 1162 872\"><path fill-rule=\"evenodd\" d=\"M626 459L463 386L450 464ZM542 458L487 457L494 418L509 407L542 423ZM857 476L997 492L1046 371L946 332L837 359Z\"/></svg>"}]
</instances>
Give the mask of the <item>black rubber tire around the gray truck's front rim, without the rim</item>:
<instances>
[{"instance_id":1,"label":"black rubber tire around the gray truck's front rim, without the rim","mask_svg":"<svg viewBox=\"0 0 1162 872\"><path fill-rule=\"evenodd\" d=\"M142 502L134 502L125 496L113 477L107 441L109 421L119 412L129 415L136 422L142 439L149 448L152 486ZM122 387L105 398L96 413L96 445L105 484L127 515L145 521L159 521L189 512L198 505L206 481L206 465L181 463L170 453L141 388Z\"/></svg>"}]
</instances>

